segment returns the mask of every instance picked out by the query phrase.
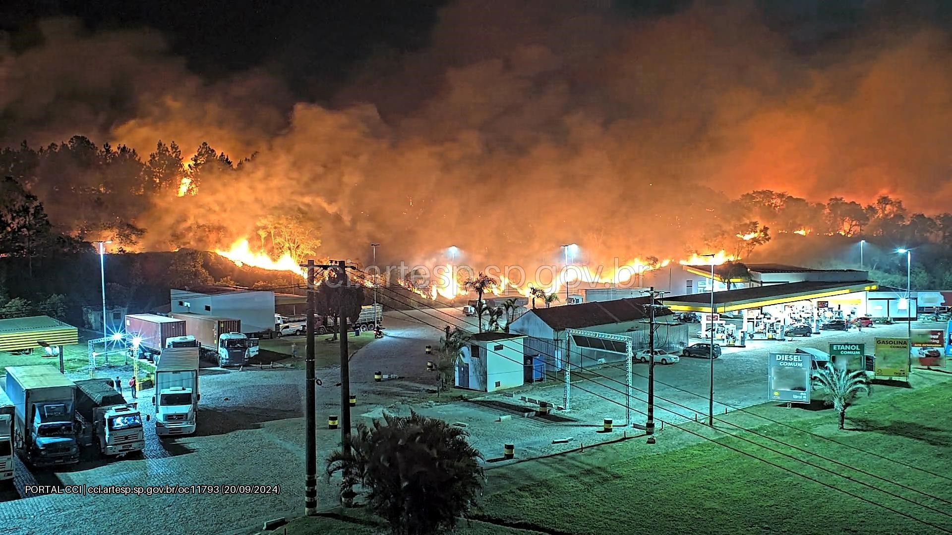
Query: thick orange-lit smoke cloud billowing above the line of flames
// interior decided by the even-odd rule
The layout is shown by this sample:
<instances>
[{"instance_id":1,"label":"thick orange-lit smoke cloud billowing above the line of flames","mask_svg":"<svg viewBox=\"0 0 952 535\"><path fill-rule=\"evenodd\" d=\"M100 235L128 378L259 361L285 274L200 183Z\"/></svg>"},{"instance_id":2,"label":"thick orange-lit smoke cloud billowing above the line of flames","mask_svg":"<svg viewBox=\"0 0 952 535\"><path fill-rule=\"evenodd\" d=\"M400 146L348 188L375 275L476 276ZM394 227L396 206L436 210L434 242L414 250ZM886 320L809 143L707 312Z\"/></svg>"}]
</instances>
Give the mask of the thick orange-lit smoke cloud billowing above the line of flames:
<instances>
[{"instance_id":1,"label":"thick orange-lit smoke cloud billowing above the line of flames","mask_svg":"<svg viewBox=\"0 0 952 535\"><path fill-rule=\"evenodd\" d=\"M429 49L367 62L333 106L293 108L260 73L207 85L156 36L57 23L2 63L0 137L94 130L143 153L160 138L256 152L193 197L156 201L137 221L150 248L253 238L262 218L300 210L330 256L366 259L373 241L432 262L455 245L532 266L575 242L593 262L677 258L705 248L706 228L735 216L726 199L751 189L952 201L945 33L806 55L753 8L631 20L605 4L459 1ZM219 230L194 231L208 226Z\"/></svg>"}]
</instances>

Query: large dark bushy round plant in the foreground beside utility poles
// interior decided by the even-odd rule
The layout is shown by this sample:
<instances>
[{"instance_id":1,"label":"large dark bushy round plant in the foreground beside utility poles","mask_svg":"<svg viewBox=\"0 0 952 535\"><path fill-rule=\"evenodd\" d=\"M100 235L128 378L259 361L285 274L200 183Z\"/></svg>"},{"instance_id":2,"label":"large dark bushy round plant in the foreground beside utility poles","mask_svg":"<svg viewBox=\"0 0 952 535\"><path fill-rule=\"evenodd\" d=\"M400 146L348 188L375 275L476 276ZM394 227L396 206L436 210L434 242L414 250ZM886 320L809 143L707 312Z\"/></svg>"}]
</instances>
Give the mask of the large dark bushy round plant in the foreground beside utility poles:
<instances>
[{"instance_id":1,"label":"large dark bushy round plant in the foreground beside utility poles","mask_svg":"<svg viewBox=\"0 0 952 535\"><path fill-rule=\"evenodd\" d=\"M476 502L485 478L483 456L468 436L465 429L412 411L405 417L385 412L372 426L358 424L330 455L327 481L341 472L345 505L362 491L391 533L451 530Z\"/></svg>"}]
</instances>

